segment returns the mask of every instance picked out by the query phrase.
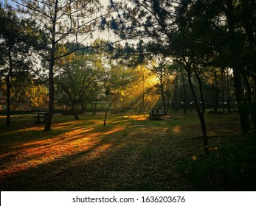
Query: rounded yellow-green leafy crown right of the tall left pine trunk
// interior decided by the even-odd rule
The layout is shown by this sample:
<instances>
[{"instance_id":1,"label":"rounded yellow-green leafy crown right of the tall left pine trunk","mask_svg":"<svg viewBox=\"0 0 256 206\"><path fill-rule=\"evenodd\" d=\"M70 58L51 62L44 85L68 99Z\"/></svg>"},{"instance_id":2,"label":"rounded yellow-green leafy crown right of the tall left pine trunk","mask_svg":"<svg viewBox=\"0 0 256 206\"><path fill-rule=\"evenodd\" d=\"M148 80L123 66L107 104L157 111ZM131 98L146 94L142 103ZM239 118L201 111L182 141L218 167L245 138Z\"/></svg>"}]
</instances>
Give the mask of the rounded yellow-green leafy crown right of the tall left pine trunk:
<instances>
[{"instance_id":1,"label":"rounded yellow-green leafy crown right of the tall left pine trunk","mask_svg":"<svg viewBox=\"0 0 256 206\"><path fill-rule=\"evenodd\" d=\"M58 48L58 53L69 52L71 43ZM55 64L58 75L55 83L58 85L58 102L72 104L73 110L78 104L98 101L102 92L105 76L105 59L103 53L89 50L75 51L63 57Z\"/></svg>"}]
</instances>

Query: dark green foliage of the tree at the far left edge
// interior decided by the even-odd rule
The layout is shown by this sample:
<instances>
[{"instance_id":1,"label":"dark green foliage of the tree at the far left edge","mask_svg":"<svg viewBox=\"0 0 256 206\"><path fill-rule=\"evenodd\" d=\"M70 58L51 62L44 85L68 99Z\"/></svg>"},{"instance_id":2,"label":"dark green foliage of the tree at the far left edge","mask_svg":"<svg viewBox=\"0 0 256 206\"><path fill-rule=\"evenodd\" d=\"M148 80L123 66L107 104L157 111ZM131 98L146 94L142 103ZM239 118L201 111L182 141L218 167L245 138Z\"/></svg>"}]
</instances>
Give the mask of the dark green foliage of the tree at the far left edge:
<instances>
[{"instance_id":1,"label":"dark green foliage of the tree at the far left edge","mask_svg":"<svg viewBox=\"0 0 256 206\"><path fill-rule=\"evenodd\" d=\"M4 4L0 7L0 22L1 70L6 74L28 69L32 62L29 58L32 41L36 40L32 35L32 21L18 18L15 9L10 4Z\"/></svg>"}]
</instances>

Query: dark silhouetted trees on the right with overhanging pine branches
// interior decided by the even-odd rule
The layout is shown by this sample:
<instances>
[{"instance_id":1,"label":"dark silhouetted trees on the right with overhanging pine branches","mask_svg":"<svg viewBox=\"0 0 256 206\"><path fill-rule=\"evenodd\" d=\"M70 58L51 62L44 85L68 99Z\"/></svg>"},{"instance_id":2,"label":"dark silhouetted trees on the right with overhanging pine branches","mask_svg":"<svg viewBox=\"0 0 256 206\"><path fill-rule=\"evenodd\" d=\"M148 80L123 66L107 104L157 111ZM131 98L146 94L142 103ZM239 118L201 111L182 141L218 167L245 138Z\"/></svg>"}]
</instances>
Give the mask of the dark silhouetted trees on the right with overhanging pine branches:
<instances>
[{"instance_id":1,"label":"dark silhouetted trees on the right with overhanging pine branches","mask_svg":"<svg viewBox=\"0 0 256 206\"><path fill-rule=\"evenodd\" d=\"M142 48L137 52L163 54L181 66L201 122L205 153L203 79L210 68L232 68L241 130L255 128L255 1L130 2L115 21L120 37L139 37Z\"/></svg>"}]
</instances>

